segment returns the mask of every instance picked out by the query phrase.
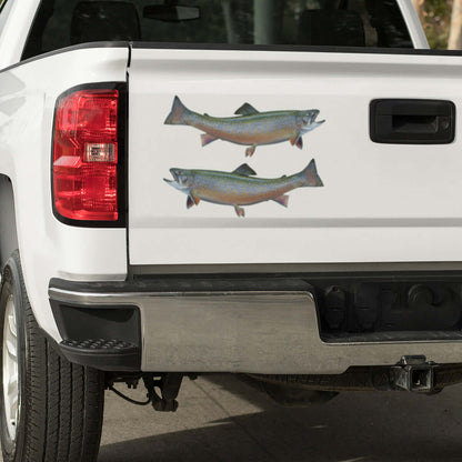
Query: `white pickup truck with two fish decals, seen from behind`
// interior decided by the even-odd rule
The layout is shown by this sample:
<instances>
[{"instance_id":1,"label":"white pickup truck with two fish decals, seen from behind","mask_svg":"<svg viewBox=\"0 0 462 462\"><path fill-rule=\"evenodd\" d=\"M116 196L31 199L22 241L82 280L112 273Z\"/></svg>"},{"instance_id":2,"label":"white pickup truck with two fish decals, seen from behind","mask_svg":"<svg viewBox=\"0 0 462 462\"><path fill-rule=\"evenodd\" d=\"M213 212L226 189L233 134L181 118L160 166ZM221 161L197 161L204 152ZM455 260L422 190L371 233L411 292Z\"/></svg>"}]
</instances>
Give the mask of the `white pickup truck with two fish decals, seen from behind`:
<instances>
[{"instance_id":1,"label":"white pickup truck with two fish decals, seen from behind","mask_svg":"<svg viewBox=\"0 0 462 462\"><path fill-rule=\"evenodd\" d=\"M0 0L3 460L96 461L117 382L462 381L462 58L428 48L410 0Z\"/></svg>"}]
</instances>

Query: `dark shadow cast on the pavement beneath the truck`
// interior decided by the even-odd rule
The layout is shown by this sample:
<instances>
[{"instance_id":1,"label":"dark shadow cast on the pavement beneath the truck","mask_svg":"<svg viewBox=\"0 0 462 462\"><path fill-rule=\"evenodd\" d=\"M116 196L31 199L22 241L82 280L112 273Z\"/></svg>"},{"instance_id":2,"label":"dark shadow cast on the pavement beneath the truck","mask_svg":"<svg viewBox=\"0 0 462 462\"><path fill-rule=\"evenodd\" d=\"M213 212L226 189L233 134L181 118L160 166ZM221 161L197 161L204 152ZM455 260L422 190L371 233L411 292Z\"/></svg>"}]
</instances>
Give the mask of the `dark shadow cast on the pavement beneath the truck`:
<instances>
[{"instance_id":1,"label":"dark shadow cast on the pavement beneath the truck","mask_svg":"<svg viewBox=\"0 0 462 462\"><path fill-rule=\"evenodd\" d=\"M230 388L245 394L235 381ZM344 393L308 409L262 399L262 412L103 445L99 462L455 462L462 460L461 392Z\"/></svg>"}]
</instances>

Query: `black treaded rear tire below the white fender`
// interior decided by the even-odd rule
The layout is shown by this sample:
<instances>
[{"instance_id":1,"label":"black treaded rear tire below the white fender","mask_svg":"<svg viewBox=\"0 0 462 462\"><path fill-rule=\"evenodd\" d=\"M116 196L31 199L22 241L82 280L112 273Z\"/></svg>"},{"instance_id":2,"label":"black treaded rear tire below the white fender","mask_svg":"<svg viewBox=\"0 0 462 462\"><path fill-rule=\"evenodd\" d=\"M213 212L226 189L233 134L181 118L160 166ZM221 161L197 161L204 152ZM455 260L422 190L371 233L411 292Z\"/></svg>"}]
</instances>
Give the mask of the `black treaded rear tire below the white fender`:
<instances>
[{"instance_id":1,"label":"black treaded rear tire below the white fender","mask_svg":"<svg viewBox=\"0 0 462 462\"><path fill-rule=\"evenodd\" d=\"M10 436L3 393L3 325L7 301L17 321L19 411ZM101 436L104 376L58 354L33 317L14 252L0 291L0 435L4 462L94 462ZM8 328L7 328L8 329ZM14 433L14 431L12 432Z\"/></svg>"}]
</instances>

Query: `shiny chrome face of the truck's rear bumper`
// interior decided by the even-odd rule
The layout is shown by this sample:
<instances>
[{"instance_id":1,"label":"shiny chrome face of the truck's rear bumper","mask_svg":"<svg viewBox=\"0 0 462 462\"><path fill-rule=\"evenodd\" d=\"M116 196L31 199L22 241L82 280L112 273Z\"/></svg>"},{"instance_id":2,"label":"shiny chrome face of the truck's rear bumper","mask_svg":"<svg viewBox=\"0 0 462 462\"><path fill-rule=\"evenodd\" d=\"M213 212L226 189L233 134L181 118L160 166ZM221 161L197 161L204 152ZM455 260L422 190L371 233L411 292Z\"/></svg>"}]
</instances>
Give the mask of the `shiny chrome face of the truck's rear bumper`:
<instances>
[{"instance_id":1,"label":"shiny chrome face of the truck's rear bumper","mask_svg":"<svg viewBox=\"0 0 462 462\"><path fill-rule=\"evenodd\" d=\"M404 355L462 363L462 341L325 343L308 291L113 292L49 289L78 305L138 305L143 371L342 373Z\"/></svg>"}]
</instances>

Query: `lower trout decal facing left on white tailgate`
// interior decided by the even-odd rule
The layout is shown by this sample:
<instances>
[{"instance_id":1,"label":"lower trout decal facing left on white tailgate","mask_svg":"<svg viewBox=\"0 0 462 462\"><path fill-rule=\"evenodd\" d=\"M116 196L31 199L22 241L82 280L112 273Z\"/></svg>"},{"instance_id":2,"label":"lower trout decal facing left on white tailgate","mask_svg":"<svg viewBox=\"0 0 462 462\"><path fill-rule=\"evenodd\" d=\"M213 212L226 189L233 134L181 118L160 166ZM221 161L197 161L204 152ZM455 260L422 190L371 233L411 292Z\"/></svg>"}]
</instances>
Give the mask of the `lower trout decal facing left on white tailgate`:
<instances>
[{"instance_id":1,"label":"lower trout decal facing left on white tailgate","mask_svg":"<svg viewBox=\"0 0 462 462\"><path fill-rule=\"evenodd\" d=\"M233 172L214 170L170 169L173 180L164 181L188 195L187 208L199 205L201 200L234 207L238 217L244 217L242 205L264 201L289 204L287 192L297 188L323 187L314 159L299 173L275 179L255 178L255 172L242 164Z\"/></svg>"}]
</instances>

